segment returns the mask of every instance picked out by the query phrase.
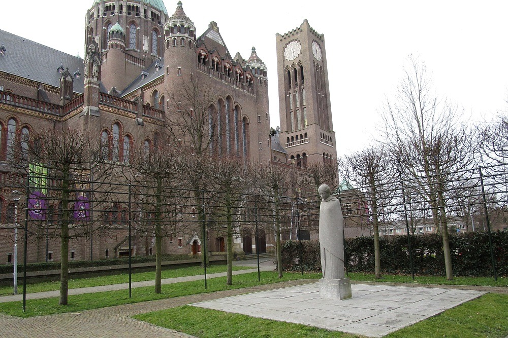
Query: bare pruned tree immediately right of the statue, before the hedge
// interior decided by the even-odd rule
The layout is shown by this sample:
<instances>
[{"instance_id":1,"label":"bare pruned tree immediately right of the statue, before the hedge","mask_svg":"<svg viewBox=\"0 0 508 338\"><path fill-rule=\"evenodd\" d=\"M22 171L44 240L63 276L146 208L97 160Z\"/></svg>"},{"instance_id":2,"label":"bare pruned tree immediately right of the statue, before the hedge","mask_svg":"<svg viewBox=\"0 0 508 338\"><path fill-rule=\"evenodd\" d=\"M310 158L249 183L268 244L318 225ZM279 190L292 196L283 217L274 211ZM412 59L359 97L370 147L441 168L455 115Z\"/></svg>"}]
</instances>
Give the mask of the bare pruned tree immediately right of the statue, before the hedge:
<instances>
[{"instance_id":1,"label":"bare pruned tree immediately right of the statue, before the hedge","mask_svg":"<svg viewBox=\"0 0 508 338\"><path fill-rule=\"evenodd\" d=\"M375 277L381 278L381 258L379 250L379 211L388 212L394 191L390 190L393 185L394 170L383 145L366 148L362 151L345 156L344 171L346 177L364 186L369 196L372 210L372 226L374 233L374 270Z\"/></svg>"}]
</instances>

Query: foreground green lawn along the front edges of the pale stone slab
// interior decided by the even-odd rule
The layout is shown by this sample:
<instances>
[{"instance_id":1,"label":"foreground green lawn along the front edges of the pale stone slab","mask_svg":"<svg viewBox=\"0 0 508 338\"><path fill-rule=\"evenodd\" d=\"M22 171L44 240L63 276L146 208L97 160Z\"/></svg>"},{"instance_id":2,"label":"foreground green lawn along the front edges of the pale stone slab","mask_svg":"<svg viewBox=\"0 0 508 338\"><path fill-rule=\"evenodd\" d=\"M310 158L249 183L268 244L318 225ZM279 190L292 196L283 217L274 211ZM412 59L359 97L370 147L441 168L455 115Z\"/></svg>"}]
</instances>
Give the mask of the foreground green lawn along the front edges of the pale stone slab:
<instances>
[{"instance_id":1,"label":"foreground green lawn along the front edges of the pale stone slab","mask_svg":"<svg viewBox=\"0 0 508 338\"><path fill-rule=\"evenodd\" d=\"M489 293L444 313L403 328L386 338L504 338L508 335L508 295ZM358 335L300 324L252 318L240 314L182 306L135 316L200 338L316 337L352 338ZM217 325L220 323L220 325Z\"/></svg>"}]
</instances>

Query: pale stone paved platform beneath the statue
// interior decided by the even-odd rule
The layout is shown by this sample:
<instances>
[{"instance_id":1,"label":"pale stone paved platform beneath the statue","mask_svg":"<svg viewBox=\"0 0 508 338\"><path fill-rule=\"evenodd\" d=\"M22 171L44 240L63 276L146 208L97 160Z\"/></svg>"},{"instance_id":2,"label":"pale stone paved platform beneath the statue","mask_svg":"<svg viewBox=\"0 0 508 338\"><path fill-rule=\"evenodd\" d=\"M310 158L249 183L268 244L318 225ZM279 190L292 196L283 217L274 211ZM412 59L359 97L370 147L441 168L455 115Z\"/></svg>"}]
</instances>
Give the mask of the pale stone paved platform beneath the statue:
<instances>
[{"instance_id":1,"label":"pale stone paved platform beneath the statue","mask_svg":"<svg viewBox=\"0 0 508 338\"><path fill-rule=\"evenodd\" d=\"M320 299L319 283L192 304L252 317L299 323L371 337L435 316L485 291L352 284L353 298Z\"/></svg>"}]
</instances>

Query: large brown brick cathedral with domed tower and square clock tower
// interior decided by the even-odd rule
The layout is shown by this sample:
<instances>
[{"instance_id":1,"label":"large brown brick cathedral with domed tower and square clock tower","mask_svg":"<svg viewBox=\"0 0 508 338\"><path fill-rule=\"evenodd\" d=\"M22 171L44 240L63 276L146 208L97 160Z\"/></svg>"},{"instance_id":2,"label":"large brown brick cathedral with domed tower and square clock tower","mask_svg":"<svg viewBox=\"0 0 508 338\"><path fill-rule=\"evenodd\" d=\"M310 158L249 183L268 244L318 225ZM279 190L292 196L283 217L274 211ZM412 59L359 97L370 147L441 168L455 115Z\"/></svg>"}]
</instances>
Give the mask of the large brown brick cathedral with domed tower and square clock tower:
<instances>
[{"instance_id":1,"label":"large brown brick cathedral with domed tower and square clock tower","mask_svg":"<svg viewBox=\"0 0 508 338\"><path fill-rule=\"evenodd\" d=\"M281 127L272 131L267 67L256 49L246 59L230 53L214 21L197 35L181 2L169 15L162 0L94 0L86 12L84 59L7 31L0 35L0 264L12 262L16 196L6 183L16 135L78 129L110 142L117 149L113 160L126 162L133 147L161 142L179 89L196 74L218 94L208 108L225 131L215 144L218 156L296 166L336 159L324 35L306 20L276 35ZM194 241L199 236L168 240L164 253L192 254ZM235 249L256 250L243 242L235 240ZM271 251L272 243L267 238L260 250ZM70 245L71 259L103 259L125 252L125 236ZM136 254L150 254L150 245L138 241ZM220 241L210 245L209 251L224 249ZM44 261L48 252L59 260L58 246L31 245L28 261Z\"/></svg>"}]
</instances>

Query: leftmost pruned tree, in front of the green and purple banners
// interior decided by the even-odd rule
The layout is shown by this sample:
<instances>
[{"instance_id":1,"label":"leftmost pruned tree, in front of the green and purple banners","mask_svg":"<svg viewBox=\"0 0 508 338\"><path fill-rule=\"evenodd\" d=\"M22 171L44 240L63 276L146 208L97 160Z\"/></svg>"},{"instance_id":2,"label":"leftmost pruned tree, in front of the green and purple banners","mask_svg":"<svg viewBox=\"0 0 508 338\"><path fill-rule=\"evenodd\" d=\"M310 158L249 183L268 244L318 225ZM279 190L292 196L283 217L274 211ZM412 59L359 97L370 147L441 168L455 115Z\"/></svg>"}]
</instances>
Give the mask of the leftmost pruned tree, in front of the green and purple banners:
<instances>
[{"instance_id":1,"label":"leftmost pruned tree, in front of the green and purple banners","mask_svg":"<svg viewBox=\"0 0 508 338\"><path fill-rule=\"evenodd\" d=\"M100 204L107 200L107 192L93 195L89 188L90 176L93 173L96 188L99 188L114 169L114 164L107 163L101 156L99 139L94 140L87 134L71 129L43 129L30 133L29 139L20 139L19 149L22 156L18 162L25 166L31 175L30 197L33 202L28 205L31 218L43 220L52 217L48 212L47 202L59 202L58 221L56 224L40 222L40 227L47 227L47 233L60 238L60 297L59 305L68 304L69 282L69 241L86 236L87 231L98 231L101 227L86 227L90 218L90 203ZM86 187L88 186L88 187ZM37 191L49 190L48 197ZM92 196L90 196L90 194ZM92 201L90 201L92 200ZM53 210L56 212L56 210Z\"/></svg>"}]
</instances>

